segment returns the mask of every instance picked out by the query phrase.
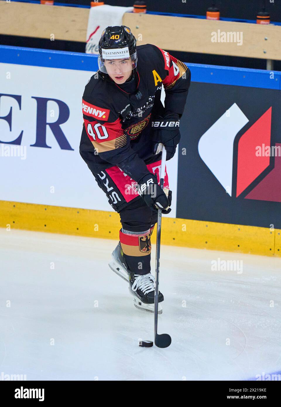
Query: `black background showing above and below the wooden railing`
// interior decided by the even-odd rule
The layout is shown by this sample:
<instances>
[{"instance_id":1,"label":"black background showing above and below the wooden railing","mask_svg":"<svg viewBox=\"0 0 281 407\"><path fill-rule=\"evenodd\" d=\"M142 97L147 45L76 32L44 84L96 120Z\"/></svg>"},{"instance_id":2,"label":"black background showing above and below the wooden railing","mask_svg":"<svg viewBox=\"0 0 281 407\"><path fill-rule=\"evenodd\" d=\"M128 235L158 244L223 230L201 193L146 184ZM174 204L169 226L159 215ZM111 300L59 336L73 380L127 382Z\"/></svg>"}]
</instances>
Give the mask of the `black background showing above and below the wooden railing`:
<instances>
[{"instance_id":1,"label":"black background showing above and below the wooden railing","mask_svg":"<svg viewBox=\"0 0 281 407\"><path fill-rule=\"evenodd\" d=\"M58 0L57 3L90 5L90 0ZM105 4L113 6L133 6L133 0L105 0ZM281 0L218 0L216 6L220 9L222 17L255 20L257 12L262 5L271 15L271 20L281 22ZM206 10L212 5L211 0L147 0L148 11L161 11L166 13L182 13L194 15L206 15ZM46 6L50 7L50 6ZM182 41L179 37L179 41ZM17 37L13 35L0 35L1 45L23 46L31 48L43 48L61 51L85 52L84 42L50 41L49 39ZM174 57L187 63L203 63L221 66L237 66L242 68L266 69L265 59L229 57L224 55L210 55L200 53L183 53L167 50ZM281 70L281 61L274 61L274 70Z\"/></svg>"}]
</instances>

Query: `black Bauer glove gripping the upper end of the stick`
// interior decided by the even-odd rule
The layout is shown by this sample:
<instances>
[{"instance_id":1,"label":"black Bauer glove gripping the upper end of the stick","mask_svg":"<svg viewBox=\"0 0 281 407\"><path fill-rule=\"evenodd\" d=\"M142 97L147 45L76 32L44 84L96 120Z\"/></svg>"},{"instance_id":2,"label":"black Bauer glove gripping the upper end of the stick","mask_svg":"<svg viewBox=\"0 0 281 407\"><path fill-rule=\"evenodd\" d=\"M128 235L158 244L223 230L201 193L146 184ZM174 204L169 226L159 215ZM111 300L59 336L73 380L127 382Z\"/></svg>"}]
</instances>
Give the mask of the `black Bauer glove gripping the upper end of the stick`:
<instances>
[{"instance_id":1,"label":"black Bauer glove gripping the upper end of the stick","mask_svg":"<svg viewBox=\"0 0 281 407\"><path fill-rule=\"evenodd\" d=\"M155 144L154 153L160 153L159 143L163 143L167 151L166 160L170 160L174 156L176 145L179 144L181 139L179 115L175 113L165 117L156 116L151 126L154 130L152 133L152 142Z\"/></svg>"}]
</instances>

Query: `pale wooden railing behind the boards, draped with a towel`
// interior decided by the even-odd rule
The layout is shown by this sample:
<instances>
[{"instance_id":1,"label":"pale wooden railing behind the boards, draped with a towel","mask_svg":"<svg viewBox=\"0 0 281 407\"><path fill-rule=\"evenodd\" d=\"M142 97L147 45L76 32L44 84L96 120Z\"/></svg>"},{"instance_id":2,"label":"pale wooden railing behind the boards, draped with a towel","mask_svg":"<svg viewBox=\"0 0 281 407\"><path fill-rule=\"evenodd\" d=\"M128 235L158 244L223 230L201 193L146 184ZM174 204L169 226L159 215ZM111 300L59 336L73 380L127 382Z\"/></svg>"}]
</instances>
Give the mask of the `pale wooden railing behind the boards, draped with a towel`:
<instances>
[{"instance_id":1,"label":"pale wooden railing behind the boards, draped with a towel","mask_svg":"<svg viewBox=\"0 0 281 407\"><path fill-rule=\"evenodd\" d=\"M0 34L86 42L89 9L0 1ZM125 13L137 44L192 53L281 60L281 26ZM229 42L213 42L229 33ZM238 36L235 38L235 35ZM236 42L231 42L236 39ZM238 45L240 44L240 45ZM270 64L269 64L270 65ZM270 66L268 66L270 69Z\"/></svg>"}]
</instances>

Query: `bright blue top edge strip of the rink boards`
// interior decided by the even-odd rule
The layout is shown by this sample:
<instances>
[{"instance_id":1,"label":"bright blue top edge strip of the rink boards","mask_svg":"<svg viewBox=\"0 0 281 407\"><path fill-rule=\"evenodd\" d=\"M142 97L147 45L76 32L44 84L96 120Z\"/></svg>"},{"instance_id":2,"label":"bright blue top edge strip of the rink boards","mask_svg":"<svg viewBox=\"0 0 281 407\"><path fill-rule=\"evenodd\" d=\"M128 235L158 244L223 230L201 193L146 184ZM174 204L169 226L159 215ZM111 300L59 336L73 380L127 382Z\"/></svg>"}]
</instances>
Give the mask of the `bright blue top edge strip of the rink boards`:
<instances>
[{"instance_id":1,"label":"bright blue top edge strip of the rink boards","mask_svg":"<svg viewBox=\"0 0 281 407\"><path fill-rule=\"evenodd\" d=\"M0 62L95 72L96 55L0 45ZM281 72L185 62L193 82L281 89Z\"/></svg>"}]
</instances>

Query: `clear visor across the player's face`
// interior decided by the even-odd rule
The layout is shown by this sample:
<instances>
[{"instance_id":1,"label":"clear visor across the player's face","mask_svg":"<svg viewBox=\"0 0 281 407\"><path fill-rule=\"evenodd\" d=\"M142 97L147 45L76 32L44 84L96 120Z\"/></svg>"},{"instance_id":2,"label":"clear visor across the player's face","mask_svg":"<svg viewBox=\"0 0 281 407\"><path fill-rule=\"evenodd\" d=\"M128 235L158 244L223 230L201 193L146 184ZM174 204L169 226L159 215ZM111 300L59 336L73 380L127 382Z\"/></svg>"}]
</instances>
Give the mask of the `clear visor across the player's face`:
<instances>
[{"instance_id":1,"label":"clear visor across the player's face","mask_svg":"<svg viewBox=\"0 0 281 407\"><path fill-rule=\"evenodd\" d=\"M137 66L137 51L129 58L104 59L98 56L98 68L100 72L111 75L118 75L129 72Z\"/></svg>"}]
</instances>

